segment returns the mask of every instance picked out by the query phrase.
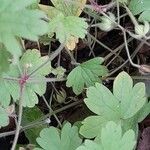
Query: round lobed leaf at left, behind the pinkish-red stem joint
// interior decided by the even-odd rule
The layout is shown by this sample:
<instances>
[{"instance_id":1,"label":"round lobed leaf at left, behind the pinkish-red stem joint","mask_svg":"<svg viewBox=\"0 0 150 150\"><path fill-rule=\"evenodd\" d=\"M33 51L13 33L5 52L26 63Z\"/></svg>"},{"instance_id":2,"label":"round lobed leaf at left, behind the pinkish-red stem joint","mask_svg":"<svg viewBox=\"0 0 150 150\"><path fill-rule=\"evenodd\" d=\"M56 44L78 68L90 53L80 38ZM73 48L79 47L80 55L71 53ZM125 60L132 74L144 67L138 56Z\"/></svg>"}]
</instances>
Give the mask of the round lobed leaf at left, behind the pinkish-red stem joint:
<instances>
[{"instance_id":1,"label":"round lobed leaf at left, behind the pinkish-red stem joint","mask_svg":"<svg viewBox=\"0 0 150 150\"><path fill-rule=\"evenodd\" d=\"M11 96L16 102L19 99L20 84L19 79L24 75L29 75L35 69L39 68L36 73L31 75L27 80L23 90L23 106L34 107L38 103L38 95L43 95L46 91L45 76L51 72L51 63L47 61L47 56L40 56L38 50L27 50L20 60L20 66L11 64L7 73L3 73L0 78L0 103L6 107L10 104ZM17 79L17 80L15 80Z\"/></svg>"}]
</instances>

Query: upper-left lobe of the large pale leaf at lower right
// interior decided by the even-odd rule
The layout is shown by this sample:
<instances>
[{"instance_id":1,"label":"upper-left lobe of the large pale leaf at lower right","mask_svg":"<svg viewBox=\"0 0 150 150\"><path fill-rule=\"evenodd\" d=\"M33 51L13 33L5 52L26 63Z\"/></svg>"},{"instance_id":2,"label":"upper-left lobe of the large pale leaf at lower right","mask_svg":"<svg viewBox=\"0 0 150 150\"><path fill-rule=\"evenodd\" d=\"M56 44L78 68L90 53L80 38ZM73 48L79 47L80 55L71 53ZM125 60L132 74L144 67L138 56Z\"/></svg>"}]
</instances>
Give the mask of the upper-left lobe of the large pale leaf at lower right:
<instances>
[{"instance_id":1,"label":"upper-left lobe of the large pale leaf at lower right","mask_svg":"<svg viewBox=\"0 0 150 150\"><path fill-rule=\"evenodd\" d=\"M114 120L120 117L119 101L103 84L96 83L95 87L89 87L84 102L92 112L106 119Z\"/></svg>"}]
</instances>

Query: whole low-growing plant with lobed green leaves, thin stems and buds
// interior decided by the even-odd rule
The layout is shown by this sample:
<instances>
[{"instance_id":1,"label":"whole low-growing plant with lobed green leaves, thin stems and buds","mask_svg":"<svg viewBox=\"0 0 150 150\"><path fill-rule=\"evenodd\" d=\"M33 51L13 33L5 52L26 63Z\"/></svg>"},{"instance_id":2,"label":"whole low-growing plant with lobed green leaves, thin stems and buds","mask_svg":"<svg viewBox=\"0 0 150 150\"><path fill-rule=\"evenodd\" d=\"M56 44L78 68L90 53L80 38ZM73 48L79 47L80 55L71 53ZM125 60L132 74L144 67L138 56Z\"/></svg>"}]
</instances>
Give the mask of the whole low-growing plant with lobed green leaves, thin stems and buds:
<instances>
[{"instance_id":1,"label":"whole low-growing plant with lobed green leaves, thin stems and buds","mask_svg":"<svg viewBox=\"0 0 150 150\"><path fill-rule=\"evenodd\" d=\"M103 81L123 67L120 65L113 71L106 67L112 63L113 55L113 59L118 57L125 64L129 61L143 74L150 73L147 64L133 62L135 55L131 57L127 40L128 34L132 40L148 44L149 0L113 0L106 5L98 5L94 0L89 3L86 0L51 0L51 3L53 6L39 4L39 0L0 0L0 128L7 129L12 118L16 122L15 130L0 133L0 137L15 135L11 150L136 149L138 124L150 113L146 86L143 82L134 84L125 71L113 78L112 89ZM116 8L117 13L114 13ZM126 14L120 16L120 9ZM82 13L87 15L81 17ZM120 23L126 15L134 31ZM95 36L91 35L93 28ZM114 50L98 40L97 32L115 29L123 33L124 43ZM39 50L26 48L29 41L37 43ZM51 42L58 47L52 52ZM89 46L94 58L78 63L74 53L81 42ZM103 58L95 57L96 42L110 53L106 56L105 52L100 53ZM49 47L46 55L41 53L43 44ZM127 60L120 56L121 47L125 47ZM71 67L61 66L62 52L70 57ZM57 56L56 65L53 60ZM54 82L61 82L63 86L57 90ZM48 83L52 85L49 101L44 95ZM75 95L68 96L70 93ZM49 112L39 109L39 99ZM79 99L84 99L84 103ZM76 120L71 125L57 116L79 104L90 111L82 121ZM58 127L50 126L51 116ZM29 145L17 144L20 132L25 133Z\"/></svg>"}]
</instances>

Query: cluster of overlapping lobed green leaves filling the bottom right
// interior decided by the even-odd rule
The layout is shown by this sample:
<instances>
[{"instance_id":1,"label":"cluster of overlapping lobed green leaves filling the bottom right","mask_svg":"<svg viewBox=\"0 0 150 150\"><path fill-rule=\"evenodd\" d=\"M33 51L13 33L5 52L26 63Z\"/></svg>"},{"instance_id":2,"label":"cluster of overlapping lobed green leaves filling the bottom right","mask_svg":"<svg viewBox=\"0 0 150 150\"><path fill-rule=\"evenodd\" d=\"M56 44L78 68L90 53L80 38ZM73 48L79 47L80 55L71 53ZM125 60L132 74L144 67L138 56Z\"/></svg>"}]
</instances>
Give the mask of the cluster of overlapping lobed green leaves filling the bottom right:
<instances>
[{"instance_id":1,"label":"cluster of overlapping lobed green leaves filling the bottom right","mask_svg":"<svg viewBox=\"0 0 150 150\"><path fill-rule=\"evenodd\" d=\"M87 89L84 102L97 115L87 117L82 122L79 133L86 138L83 144L78 129L75 130L74 126L71 128L67 123L61 132L54 127L43 129L37 138L42 149L35 150L134 149L137 124L150 112L144 83L133 86L131 77L122 72L114 81L113 94L104 85L96 83ZM94 138L94 141L89 138Z\"/></svg>"}]
</instances>

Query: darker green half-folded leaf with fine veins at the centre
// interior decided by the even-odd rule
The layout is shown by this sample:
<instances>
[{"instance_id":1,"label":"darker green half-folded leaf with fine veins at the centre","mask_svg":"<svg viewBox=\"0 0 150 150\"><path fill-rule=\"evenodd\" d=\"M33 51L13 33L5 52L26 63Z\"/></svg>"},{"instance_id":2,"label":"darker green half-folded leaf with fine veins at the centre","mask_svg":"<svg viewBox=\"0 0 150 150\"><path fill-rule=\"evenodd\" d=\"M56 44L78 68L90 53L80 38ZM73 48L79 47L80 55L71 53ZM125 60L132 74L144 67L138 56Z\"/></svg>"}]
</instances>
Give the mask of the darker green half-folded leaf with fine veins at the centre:
<instances>
[{"instance_id":1,"label":"darker green half-folded leaf with fine veins at the centre","mask_svg":"<svg viewBox=\"0 0 150 150\"><path fill-rule=\"evenodd\" d=\"M80 64L70 72L66 85L72 87L75 94L80 94L85 87L101 82L99 76L107 74L102 63L103 58L98 57Z\"/></svg>"}]
</instances>

